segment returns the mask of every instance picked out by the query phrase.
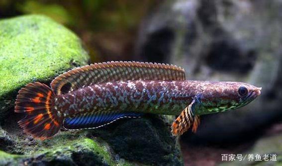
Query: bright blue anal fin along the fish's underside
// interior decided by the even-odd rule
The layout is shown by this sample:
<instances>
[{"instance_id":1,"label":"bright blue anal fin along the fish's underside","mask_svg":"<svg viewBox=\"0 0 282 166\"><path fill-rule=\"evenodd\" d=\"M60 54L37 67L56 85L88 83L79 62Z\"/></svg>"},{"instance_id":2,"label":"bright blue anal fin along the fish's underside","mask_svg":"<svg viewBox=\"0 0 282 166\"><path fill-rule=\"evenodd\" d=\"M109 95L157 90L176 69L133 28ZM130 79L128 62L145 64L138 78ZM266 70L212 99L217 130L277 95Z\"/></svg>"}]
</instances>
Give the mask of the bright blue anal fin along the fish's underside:
<instances>
[{"instance_id":1,"label":"bright blue anal fin along the fish's underside","mask_svg":"<svg viewBox=\"0 0 282 166\"><path fill-rule=\"evenodd\" d=\"M63 126L68 130L96 129L108 125L122 118L140 118L143 113L101 111L96 113L86 113L74 117L66 118Z\"/></svg>"}]
</instances>

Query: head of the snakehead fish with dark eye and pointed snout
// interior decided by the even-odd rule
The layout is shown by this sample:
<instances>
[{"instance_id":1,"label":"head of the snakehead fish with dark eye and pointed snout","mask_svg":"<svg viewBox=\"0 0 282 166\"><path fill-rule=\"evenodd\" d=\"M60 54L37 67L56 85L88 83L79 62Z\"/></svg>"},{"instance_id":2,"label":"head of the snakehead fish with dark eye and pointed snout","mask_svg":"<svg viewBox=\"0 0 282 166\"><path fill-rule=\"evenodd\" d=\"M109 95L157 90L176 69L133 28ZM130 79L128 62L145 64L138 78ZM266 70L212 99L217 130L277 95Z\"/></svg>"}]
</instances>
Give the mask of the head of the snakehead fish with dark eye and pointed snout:
<instances>
[{"instance_id":1,"label":"head of the snakehead fish with dark eye and pointed snout","mask_svg":"<svg viewBox=\"0 0 282 166\"><path fill-rule=\"evenodd\" d=\"M242 82L210 82L203 87L198 114L241 108L260 96L261 89Z\"/></svg>"}]
</instances>

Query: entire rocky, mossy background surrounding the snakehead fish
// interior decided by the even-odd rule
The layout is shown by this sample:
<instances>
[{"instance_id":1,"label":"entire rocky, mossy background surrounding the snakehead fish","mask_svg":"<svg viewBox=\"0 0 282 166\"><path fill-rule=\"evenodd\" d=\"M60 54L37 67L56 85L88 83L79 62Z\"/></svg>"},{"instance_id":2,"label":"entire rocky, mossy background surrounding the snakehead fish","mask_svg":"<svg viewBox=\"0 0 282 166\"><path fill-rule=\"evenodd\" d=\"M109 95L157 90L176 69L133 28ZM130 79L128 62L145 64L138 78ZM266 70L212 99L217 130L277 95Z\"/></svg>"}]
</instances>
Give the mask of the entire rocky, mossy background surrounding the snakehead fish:
<instances>
[{"instance_id":1,"label":"entire rocky, mossy background surrounding the snakehead fish","mask_svg":"<svg viewBox=\"0 0 282 166\"><path fill-rule=\"evenodd\" d=\"M282 166L281 48L281 0L0 0L0 166ZM201 116L179 139L174 116L43 142L18 127L26 83L116 60L175 64L187 79L245 82L262 95Z\"/></svg>"}]
</instances>

